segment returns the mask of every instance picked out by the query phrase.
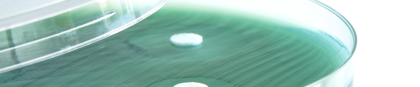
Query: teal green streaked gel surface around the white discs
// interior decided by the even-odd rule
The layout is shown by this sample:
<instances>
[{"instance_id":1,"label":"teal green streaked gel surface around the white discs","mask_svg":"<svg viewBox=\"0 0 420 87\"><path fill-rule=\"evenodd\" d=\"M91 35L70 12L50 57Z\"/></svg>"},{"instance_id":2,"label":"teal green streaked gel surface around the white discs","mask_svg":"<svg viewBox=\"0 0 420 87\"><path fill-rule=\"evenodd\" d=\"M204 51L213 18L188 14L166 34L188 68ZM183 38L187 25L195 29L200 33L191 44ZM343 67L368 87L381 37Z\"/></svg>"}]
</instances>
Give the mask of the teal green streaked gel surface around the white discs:
<instances>
[{"instance_id":1,"label":"teal green streaked gel surface around the white discs","mask_svg":"<svg viewBox=\"0 0 420 87\"><path fill-rule=\"evenodd\" d=\"M177 47L178 33L203 37ZM333 36L229 13L161 8L113 36L0 74L0 87L303 87L349 56Z\"/></svg>"}]
</instances>

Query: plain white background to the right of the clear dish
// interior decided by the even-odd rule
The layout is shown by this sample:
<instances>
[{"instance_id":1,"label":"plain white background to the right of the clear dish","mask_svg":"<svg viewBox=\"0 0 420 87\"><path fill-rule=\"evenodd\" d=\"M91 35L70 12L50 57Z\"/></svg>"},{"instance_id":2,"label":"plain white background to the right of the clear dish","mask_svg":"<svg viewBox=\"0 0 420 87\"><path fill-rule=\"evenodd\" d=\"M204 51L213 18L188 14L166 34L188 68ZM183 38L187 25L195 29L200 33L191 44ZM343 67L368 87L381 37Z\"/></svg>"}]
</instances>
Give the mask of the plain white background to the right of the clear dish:
<instances>
[{"instance_id":1,"label":"plain white background to the right of the clear dish","mask_svg":"<svg viewBox=\"0 0 420 87\"><path fill-rule=\"evenodd\" d=\"M357 33L354 87L420 87L420 0L318 0Z\"/></svg>"}]
</instances>

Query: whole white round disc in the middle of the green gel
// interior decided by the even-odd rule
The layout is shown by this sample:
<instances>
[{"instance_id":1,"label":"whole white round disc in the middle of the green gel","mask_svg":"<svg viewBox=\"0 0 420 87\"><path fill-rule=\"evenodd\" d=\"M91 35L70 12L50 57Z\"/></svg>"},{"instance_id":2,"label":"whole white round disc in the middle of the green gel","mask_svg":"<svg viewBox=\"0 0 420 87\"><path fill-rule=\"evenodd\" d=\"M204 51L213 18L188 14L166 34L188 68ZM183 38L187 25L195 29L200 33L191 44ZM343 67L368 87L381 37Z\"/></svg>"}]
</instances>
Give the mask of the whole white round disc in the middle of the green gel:
<instances>
[{"instance_id":1,"label":"whole white round disc in the middle of the green gel","mask_svg":"<svg viewBox=\"0 0 420 87\"><path fill-rule=\"evenodd\" d=\"M175 46L197 46L203 42L203 37L194 33L179 33L171 36L171 43Z\"/></svg>"}]
</instances>

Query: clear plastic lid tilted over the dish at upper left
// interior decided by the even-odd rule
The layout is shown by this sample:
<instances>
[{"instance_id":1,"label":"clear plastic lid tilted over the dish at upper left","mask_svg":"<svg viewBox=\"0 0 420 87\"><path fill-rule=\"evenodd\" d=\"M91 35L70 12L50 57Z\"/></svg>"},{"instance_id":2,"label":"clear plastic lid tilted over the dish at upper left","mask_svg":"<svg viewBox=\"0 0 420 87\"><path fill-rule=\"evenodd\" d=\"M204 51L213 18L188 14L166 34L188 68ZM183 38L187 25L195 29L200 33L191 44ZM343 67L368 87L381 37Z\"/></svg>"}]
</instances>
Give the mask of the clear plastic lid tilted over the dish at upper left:
<instances>
[{"instance_id":1,"label":"clear plastic lid tilted over the dish at upper left","mask_svg":"<svg viewBox=\"0 0 420 87\"><path fill-rule=\"evenodd\" d=\"M0 0L0 73L122 31L167 0Z\"/></svg>"}]
</instances>

